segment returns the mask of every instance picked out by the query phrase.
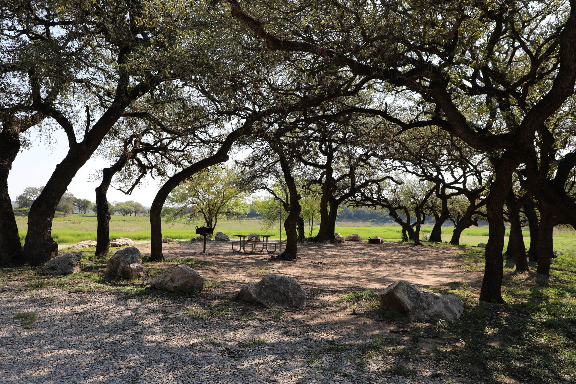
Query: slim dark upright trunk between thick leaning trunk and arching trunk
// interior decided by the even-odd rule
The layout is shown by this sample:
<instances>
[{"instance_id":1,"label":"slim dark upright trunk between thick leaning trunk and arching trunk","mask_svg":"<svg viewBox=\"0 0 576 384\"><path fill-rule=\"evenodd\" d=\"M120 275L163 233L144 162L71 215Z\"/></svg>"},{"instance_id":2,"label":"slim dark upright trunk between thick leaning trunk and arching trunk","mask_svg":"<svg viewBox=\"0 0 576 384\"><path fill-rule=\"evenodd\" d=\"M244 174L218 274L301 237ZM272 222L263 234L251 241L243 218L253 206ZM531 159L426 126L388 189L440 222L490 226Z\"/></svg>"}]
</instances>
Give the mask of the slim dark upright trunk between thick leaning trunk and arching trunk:
<instances>
[{"instance_id":1,"label":"slim dark upright trunk between thick leaning trunk and arching trunk","mask_svg":"<svg viewBox=\"0 0 576 384\"><path fill-rule=\"evenodd\" d=\"M110 212L108 208L107 192L112 183L112 177L119 172L128 161L128 154L120 156L118 161L110 168L102 169L102 181L96 187L96 253L97 258L108 258L110 249Z\"/></svg>"}]
</instances>

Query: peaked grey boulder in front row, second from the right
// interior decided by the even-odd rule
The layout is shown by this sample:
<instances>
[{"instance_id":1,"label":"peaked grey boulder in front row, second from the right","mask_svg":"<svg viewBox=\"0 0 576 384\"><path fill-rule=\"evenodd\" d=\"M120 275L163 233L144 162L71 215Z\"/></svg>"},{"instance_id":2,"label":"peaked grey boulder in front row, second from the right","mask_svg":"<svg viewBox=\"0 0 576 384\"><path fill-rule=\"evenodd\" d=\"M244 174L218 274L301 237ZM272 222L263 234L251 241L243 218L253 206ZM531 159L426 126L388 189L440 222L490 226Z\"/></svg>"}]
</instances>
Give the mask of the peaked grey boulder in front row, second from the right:
<instances>
[{"instance_id":1,"label":"peaked grey boulder in front row, second from the right","mask_svg":"<svg viewBox=\"0 0 576 384\"><path fill-rule=\"evenodd\" d=\"M268 273L259 282L242 287L235 299L267 308L302 309L306 306L306 291L294 279Z\"/></svg>"}]
</instances>

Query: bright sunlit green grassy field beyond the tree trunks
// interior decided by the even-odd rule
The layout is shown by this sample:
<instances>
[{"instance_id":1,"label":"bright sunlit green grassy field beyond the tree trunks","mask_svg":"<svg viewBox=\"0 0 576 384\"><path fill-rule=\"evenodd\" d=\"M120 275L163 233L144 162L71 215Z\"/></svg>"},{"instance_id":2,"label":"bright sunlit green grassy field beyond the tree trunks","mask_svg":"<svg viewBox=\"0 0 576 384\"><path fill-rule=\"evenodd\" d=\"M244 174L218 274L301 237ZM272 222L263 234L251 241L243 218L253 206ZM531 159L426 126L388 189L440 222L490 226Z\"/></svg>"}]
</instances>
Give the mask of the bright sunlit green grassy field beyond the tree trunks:
<instances>
[{"instance_id":1,"label":"bright sunlit green grassy field beyond the tree trunks","mask_svg":"<svg viewBox=\"0 0 576 384\"><path fill-rule=\"evenodd\" d=\"M18 228L20 228L20 237L22 241L26 236L26 217L17 216ZM203 225L202 223L187 224L184 222L177 223L164 223L162 229L162 237L187 239L195 235L195 226ZM120 216L114 215L110 220L110 238L128 237L132 240L147 240L150 239L150 222L146 216ZM423 239L429 235L432 227L425 225L422 228ZM314 226L313 234L318 230L318 226ZM268 233L274 237L278 237L278 227L274 226L270 229L262 227L262 222L254 219L247 220L224 220L218 223L216 231L222 231L232 237L236 233ZM350 223L339 222L336 226L338 231L343 236L353 233L361 235L362 238L367 239L376 235L384 239L399 240L401 238L400 226L386 225L374 226L371 223ZM449 241L452 236L452 227L442 228L442 239ZM306 235L308 235L308 224L306 224ZM508 233L506 233L508 235ZM71 214L60 215L54 219L52 225L52 237L58 244L74 244L82 240L96 240L96 215L94 214ZM282 232L282 238L286 234ZM488 241L488 227L472 227L464 231L461 237L461 244L463 245L478 245L478 243L486 243ZM528 230L524 231L524 241L526 246L530 244L530 237ZM506 237L507 242L507 237ZM556 250L562 252L576 252L576 233L572 231L556 230L554 235L554 245Z\"/></svg>"}]
</instances>

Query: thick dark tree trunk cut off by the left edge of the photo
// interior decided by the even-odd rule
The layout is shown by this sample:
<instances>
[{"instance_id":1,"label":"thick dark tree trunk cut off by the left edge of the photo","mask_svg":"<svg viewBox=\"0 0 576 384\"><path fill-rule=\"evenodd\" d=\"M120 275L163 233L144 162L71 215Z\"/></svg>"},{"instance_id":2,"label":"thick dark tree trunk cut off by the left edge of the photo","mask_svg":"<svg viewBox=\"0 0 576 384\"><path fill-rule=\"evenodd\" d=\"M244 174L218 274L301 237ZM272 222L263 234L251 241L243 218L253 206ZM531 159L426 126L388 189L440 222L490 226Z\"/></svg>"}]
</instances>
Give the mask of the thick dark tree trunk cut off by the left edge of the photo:
<instances>
[{"instance_id":1,"label":"thick dark tree trunk cut off by the left edge of the photo","mask_svg":"<svg viewBox=\"0 0 576 384\"><path fill-rule=\"evenodd\" d=\"M0 261L18 260L22 252L18 226L8 193L8 174L20 150L20 133L3 121L0 132Z\"/></svg>"}]
</instances>

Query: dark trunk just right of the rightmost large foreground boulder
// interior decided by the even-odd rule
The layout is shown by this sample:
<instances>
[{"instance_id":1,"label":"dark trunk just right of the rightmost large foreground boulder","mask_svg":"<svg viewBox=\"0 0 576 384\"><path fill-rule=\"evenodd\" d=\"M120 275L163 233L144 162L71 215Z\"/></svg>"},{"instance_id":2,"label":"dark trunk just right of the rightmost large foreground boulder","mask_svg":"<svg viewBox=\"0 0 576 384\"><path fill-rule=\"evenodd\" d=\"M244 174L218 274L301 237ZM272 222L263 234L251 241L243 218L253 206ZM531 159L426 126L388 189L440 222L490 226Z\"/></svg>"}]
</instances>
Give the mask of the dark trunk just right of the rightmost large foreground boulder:
<instances>
[{"instance_id":1,"label":"dark trunk just right of the rightmost large foreground boulder","mask_svg":"<svg viewBox=\"0 0 576 384\"><path fill-rule=\"evenodd\" d=\"M506 154L505 154L506 155ZM503 161L503 160L501 160ZM502 299L502 275L504 249L504 203L508 191L512 185L511 174L515 167L512 164L497 166L495 170L495 180L490 186L490 195L486 212L488 215L488 244L486 245L486 268L480 290L480 301L503 303Z\"/></svg>"}]
</instances>

